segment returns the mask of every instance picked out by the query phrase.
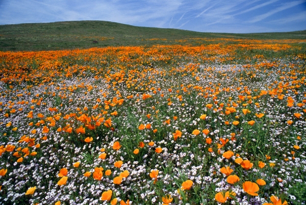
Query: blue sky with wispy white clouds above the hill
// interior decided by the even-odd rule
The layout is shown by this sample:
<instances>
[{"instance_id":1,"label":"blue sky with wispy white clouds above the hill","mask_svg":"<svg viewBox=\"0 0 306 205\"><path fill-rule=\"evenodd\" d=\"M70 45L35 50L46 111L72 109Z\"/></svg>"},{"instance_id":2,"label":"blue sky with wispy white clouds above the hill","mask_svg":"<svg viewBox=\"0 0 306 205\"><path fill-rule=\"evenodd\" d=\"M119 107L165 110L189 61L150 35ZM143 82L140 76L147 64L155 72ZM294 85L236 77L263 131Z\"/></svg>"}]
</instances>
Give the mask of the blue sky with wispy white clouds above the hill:
<instances>
[{"instance_id":1,"label":"blue sky with wispy white clouds above the hill","mask_svg":"<svg viewBox=\"0 0 306 205\"><path fill-rule=\"evenodd\" d=\"M199 32L306 30L306 0L0 0L0 24L106 20Z\"/></svg>"}]
</instances>

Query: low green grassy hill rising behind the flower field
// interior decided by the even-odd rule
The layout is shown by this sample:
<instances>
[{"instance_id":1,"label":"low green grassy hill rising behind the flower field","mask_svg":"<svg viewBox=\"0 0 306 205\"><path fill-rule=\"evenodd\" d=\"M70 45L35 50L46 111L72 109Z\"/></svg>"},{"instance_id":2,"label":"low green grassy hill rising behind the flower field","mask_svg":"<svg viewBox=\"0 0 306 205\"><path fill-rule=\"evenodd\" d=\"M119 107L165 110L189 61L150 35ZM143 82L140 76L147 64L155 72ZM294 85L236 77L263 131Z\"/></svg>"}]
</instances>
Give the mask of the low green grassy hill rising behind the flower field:
<instances>
[{"instance_id":1,"label":"low green grassy hill rising behind the flower field","mask_svg":"<svg viewBox=\"0 0 306 205\"><path fill-rule=\"evenodd\" d=\"M0 50L56 50L121 45L209 43L207 38L306 39L306 31L286 33L200 33L134 27L108 21L65 21L0 25ZM218 41L215 41L218 42Z\"/></svg>"}]
</instances>

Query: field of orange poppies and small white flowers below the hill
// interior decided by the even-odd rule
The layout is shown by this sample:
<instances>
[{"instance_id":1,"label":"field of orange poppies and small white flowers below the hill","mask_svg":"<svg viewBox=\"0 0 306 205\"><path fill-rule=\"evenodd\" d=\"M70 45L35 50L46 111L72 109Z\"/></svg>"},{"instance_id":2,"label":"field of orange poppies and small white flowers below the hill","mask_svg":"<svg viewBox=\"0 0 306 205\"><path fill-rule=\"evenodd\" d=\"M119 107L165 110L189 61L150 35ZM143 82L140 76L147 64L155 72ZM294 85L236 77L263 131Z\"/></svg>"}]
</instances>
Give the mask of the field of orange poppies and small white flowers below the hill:
<instances>
[{"instance_id":1,"label":"field of orange poppies and small white flowers below the hill","mask_svg":"<svg viewBox=\"0 0 306 205\"><path fill-rule=\"evenodd\" d=\"M306 203L300 41L0 52L0 204Z\"/></svg>"}]
</instances>

